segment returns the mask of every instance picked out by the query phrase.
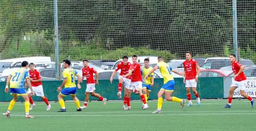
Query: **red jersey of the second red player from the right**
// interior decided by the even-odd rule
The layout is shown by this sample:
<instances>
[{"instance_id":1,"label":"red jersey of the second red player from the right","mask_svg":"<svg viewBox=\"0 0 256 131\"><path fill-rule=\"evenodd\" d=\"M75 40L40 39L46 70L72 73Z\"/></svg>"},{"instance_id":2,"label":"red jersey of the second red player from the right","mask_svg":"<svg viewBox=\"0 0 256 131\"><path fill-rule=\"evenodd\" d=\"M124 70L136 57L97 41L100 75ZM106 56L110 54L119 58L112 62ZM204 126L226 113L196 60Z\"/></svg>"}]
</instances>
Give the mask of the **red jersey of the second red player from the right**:
<instances>
[{"instance_id":1,"label":"red jersey of the second red player from the right","mask_svg":"<svg viewBox=\"0 0 256 131\"><path fill-rule=\"evenodd\" d=\"M183 62L183 66L186 69L186 80L192 80L195 79L196 76L196 66L198 66L197 62L193 59L190 59L190 61L185 60Z\"/></svg>"}]
</instances>

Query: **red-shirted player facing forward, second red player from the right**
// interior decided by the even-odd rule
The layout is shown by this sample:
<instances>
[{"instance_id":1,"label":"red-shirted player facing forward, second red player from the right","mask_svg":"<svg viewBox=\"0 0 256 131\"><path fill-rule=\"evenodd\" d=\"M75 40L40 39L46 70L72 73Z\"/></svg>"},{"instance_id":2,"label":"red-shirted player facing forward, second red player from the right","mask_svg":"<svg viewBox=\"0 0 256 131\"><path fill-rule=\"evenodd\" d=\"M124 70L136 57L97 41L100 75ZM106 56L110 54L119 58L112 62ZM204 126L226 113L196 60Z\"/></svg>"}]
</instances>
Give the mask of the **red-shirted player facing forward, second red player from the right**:
<instances>
[{"instance_id":1,"label":"red-shirted player facing forward, second red player from the right","mask_svg":"<svg viewBox=\"0 0 256 131\"><path fill-rule=\"evenodd\" d=\"M200 105L200 98L199 94L196 91L196 86L198 82L198 75L200 73L200 67L198 66L197 62L193 59L191 59L191 52L186 52L186 60L183 62L184 66L184 77L183 77L183 83L185 84L186 90L187 90L187 98L189 100L189 104L187 107L192 106L191 102L191 94L190 94L190 88L192 87L192 91L195 94L195 97L197 97L197 106ZM197 69L197 72L196 72Z\"/></svg>"}]
</instances>

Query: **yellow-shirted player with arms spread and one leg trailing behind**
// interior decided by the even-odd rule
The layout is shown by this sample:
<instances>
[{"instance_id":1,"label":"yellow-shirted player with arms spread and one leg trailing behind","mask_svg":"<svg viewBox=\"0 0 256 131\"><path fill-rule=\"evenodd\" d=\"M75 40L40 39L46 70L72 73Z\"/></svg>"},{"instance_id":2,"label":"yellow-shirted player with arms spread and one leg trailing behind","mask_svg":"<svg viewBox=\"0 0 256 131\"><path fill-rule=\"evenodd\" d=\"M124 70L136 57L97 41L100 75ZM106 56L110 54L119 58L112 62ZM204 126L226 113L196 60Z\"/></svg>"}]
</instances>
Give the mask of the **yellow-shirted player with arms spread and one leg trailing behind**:
<instances>
[{"instance_id":1,"label":"yellow-shirted player with arms spread and one leg trailing behind","mask_svg":"<svg viewBox=\"0 0 256 131\"><path fill-rule=\"evenodd\" d=\"M180 102L180 108L183 108L185 104L185 99L180 99L180 98L171 96L174 90L174 85L175 85L171 72L174 72L181 76L183 74L172 69L167 63L165 63L164 58L162 56L159 56L157 59L158 59L158 64L145 76L145 79L147 79L152 72L156 71L156 69L159 69L164 78L164 85L162 86L162 88L157 94L157 97L158 97L157 110L154 111L153 113L162 113L161 108L163 105L163 95L165 95L166 101Z\"/></svg>"}]
</instances>

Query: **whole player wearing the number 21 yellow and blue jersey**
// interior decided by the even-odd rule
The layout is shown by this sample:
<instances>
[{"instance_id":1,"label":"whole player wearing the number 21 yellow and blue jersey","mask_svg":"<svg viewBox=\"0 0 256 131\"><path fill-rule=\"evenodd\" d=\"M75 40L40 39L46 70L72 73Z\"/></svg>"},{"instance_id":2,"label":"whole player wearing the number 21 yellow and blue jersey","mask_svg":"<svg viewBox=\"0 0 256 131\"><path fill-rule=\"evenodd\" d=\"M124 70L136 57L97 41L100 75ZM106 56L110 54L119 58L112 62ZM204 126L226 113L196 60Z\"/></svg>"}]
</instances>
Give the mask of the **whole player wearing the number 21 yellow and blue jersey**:
<instances>
[{"instance_id":1,"label":"whole player wearing the number 21 yellow and blue jersey","mask_svg":"<svg viewBox=\"0 0 256 131\"><path fill-rule=\"evenodd\" d=\"M17 101L18 96L21 96L25 101L24 102L25 113L26 113L25 118L34 118L29 114L29 98L24 88L24 83L26 80L26 83L29 89L31 90L32 96L35 95L31 87L31 83L29 81L28 62L23 61L21 63L21 66L22 66L21 68L16 69L14 72L12 72L12 74L10 74L6 80L5 92L9 91L9 84L10 84L10 94L13 96L12 101L10 101L8 110L5 113L5 116L7 116L7 118L10 118L10 111L12 111L12 108L15 102Z\"/></svg>"}]
</instances>

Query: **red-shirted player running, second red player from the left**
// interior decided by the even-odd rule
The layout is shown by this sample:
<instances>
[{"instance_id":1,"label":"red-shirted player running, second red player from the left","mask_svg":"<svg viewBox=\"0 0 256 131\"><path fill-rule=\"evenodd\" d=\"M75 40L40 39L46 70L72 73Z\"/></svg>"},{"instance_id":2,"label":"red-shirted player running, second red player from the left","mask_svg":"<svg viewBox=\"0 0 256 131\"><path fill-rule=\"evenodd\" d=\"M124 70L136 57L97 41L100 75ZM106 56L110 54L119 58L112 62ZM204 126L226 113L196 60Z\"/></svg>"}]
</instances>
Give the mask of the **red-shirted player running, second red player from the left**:
<instances>
[{"instance_id":1,"label":"red-shirted player running, second red player from the left","mask_svg":"<svg viewBox=\"0 0 256 131\"><path fill-rule=\"evenodd\" d=\"M82 109L87 108L87 104L89 101L89 94L92 96L95 96L100 99L100 101L103 101L104 106L106 105L107 98L103 98L100 96L100 94L95 93L95 81L93 79L93 73L96 75L96 84L99 85L99 73L93 69L93 67L88 66L88 60L83 60L83 76L81 78L81 82L86 77L86 90L85 90L85 104Z\"/></svg>"}]
</instances>

